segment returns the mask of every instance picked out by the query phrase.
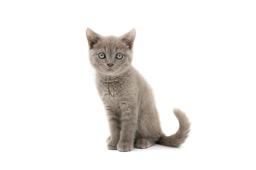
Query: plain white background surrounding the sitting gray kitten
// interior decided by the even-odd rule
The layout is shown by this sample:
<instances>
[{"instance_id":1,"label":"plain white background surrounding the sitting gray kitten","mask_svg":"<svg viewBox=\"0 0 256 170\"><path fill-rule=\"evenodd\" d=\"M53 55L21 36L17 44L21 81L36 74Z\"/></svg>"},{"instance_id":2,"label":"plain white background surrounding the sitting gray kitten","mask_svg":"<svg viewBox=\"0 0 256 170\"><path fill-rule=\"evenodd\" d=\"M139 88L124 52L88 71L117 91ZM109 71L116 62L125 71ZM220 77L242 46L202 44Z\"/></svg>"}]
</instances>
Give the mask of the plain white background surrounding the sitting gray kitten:
<instances>
[{"instance_id":1,"label":"plain white background surrounding the sitting gray kitten","mask_svg":"<svg viewBox=\"0 0 256 170\"><path fill-rule=\"evenodd\" d=\"M255 169L254 1L1 1L0 169ZM86 28L134 60L181 148L108 150ZM254 162L253 162L254 161Z\"/></svg>"}]
</instances>

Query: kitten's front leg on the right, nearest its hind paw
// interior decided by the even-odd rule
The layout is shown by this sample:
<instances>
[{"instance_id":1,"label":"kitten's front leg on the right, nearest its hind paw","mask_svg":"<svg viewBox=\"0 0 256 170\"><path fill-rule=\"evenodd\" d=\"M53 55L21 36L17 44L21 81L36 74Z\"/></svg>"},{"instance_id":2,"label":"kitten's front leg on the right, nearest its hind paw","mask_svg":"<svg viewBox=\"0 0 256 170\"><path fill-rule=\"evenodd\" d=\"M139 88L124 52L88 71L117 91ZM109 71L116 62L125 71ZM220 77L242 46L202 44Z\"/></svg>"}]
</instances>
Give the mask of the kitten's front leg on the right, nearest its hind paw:
<instances>
[{"instance_id":1,"label":"kitten's front leg on the right, nearest its hind paw","mask_svg":"<svg viewBox=\"0 0 256 170\"><path fill-rule=\"evenodd\" d=\"M131 151L133 149L138 119L138 113L135 110L129 106L127 108L123 107L122 109L120 139L117 144L119 151Z\"/></svg>"}]
</instances>

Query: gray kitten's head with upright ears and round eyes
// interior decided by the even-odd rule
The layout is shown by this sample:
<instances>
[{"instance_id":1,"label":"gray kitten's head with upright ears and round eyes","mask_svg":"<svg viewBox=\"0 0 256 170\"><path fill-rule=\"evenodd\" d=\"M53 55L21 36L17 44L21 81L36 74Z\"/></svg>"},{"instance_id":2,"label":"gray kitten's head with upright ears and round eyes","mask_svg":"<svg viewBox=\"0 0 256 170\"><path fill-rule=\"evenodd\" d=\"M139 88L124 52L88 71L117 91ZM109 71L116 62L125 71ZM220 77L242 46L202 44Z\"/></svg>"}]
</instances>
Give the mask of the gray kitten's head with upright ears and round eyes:
<instances>
[{"instance_id":1,"label":"gray kitten's head with upright ears and round eyes","mask_svg":"<svg viewBox=\"0 0 256 170\"><path fill-rule=\"evenodd\" d=\"M135 29L120 37L101 36L88 28L86 36L89 44L89 58L100 73L116 76L131 65Z\"/></svg>"}]
</instances>

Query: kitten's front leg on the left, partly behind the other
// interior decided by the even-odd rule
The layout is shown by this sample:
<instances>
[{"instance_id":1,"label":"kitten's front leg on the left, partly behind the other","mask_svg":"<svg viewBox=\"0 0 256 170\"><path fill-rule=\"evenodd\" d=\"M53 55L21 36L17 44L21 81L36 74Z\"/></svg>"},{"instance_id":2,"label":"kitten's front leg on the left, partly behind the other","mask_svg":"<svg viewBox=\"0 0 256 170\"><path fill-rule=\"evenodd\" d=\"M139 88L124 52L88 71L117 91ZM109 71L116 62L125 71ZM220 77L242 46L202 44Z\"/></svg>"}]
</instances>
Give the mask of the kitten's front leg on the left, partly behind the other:
<instances>
[{"instance_id":1,"label":"kitten's front leg on the left, partly behind the other","mask_svg":"<svg viewBox=\"0 0 256 170\"><path fill-rule=\"evenodd\" d=\"M109 122L109 129L111 135L107 138L107 147L111 150L117 150L117 143L120 135L120 120L119 116L115 114L110 106L106 106L107 117Z\"/></svg>"}]
</instances>

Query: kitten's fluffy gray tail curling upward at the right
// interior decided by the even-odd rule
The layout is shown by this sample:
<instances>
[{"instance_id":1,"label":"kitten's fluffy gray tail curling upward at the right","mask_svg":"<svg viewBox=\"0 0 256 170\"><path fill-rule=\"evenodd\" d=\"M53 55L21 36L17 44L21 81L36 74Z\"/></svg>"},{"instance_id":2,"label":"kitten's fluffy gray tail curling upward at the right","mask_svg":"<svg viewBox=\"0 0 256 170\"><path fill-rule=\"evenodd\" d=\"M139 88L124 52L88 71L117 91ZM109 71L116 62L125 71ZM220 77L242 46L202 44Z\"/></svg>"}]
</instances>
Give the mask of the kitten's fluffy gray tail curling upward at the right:
<instances>
[{"instance_id":1,"label":"kitten's fluffy gray tail curling upward at the right","mask_svg":"<svg viewBox=\"0 0 256 170\"><path fill-rule=\"evenodd\" d=\"M181 109L178 108L174 108L174 114L178 118L180 124L178 131L170 136L162 134L157 143L169 147L179 147L189 136L191 124L189 118Z\"/></svg>"}]
</instances>

